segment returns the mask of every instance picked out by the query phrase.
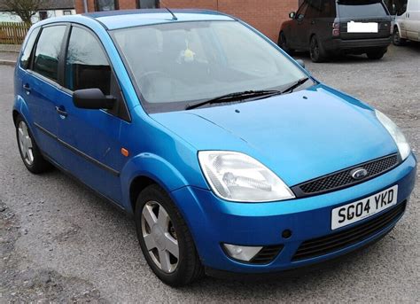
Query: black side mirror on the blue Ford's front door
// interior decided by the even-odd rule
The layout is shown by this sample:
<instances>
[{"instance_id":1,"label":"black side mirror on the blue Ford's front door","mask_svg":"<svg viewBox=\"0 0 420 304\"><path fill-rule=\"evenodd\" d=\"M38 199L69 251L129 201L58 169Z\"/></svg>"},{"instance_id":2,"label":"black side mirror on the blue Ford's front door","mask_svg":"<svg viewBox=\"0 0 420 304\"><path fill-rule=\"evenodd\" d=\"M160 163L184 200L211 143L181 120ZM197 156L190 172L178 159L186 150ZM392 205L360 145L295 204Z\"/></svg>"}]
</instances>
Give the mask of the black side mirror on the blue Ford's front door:
<instances>
[{"instance_id":1,"label":"black side mirror on the blue Ford's front door","mask_svg":"<svg viewBox=\"0 0 420 304\"><path fill-rule=\"evenodd\" d=\"M115 101L115 97L105 96L100 89L75 90L73 93L73 103L81 109L112 109Z\"/></svg>"}]
</instances>

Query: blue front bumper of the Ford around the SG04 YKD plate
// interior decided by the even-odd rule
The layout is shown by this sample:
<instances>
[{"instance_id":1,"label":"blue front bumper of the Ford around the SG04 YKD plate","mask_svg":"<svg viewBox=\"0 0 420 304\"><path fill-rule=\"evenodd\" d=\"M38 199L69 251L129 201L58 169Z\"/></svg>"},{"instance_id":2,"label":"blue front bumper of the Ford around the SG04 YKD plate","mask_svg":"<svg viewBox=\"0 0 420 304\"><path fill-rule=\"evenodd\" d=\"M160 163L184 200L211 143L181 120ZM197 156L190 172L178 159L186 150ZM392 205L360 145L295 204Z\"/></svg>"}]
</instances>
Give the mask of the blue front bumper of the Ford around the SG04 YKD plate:
<instances>
[{"instance_id":1,"label":"blue front bumper of the Ford around the SG04 YKD plate","mask_svg":"<svg viewBox=\"0 0 420 304\"><path fill-rule=\"evenodd\" d=\"M368 197L394 184L399 186L398 206L408 200L415 182L416 158L410 154L408 159L397 168L366 183L305 199L257 204L234 203L215 197L211 191L195 187L183 187L171 192L171 195L191 229L200 259L207 268L237 273L265 273L330 260L385 235L399 218L357 244L315 258L292 261L293 255L302 242L332 233L332 208ZM334 232L350 229L384 212L334 230ZM292 237L282 238L284 230L292 230ZM241 246L283 245L284 247L273 261L259 265L230 259L223 252L222 243Z\"/></svg>"}]
</instances>

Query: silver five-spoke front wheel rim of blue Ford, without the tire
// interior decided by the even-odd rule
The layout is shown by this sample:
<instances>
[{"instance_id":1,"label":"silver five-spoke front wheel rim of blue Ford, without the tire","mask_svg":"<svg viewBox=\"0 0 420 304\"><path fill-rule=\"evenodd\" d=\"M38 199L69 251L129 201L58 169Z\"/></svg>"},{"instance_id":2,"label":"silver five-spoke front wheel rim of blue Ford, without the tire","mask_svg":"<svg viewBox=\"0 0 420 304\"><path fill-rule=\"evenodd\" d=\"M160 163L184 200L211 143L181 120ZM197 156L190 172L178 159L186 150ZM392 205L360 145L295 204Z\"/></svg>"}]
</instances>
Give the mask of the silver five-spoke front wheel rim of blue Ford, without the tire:
<instances>
[{"instance_id":1,"label":"silver five-spoke front wheel rim of blue Ford, without the tire","mask_svg":"<svg viewBox=\"0 0 420 304\"><path fill-rule=\"evenodd\" d=\"M142 211L144 244L156 266L172 273L178 266L179 246L175 227L167 210L156 201L149 201Z\"/></svg>"}]
</instances>

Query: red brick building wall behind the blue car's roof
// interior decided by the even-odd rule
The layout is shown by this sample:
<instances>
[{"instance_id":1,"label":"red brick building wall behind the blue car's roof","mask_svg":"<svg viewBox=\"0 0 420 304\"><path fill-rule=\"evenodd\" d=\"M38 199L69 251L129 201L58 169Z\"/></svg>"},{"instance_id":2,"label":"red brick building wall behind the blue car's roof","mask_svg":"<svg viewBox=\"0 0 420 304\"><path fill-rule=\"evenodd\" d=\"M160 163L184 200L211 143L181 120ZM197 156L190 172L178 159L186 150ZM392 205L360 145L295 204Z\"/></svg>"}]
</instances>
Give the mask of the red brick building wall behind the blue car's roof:
<instances>
[{"instance_id":1,"label":"red brick building wall behind the blue car's roof","mask_svg":"<svg viewBox=\"0 0 420 304\"><path fill-rule=\"evenodd\" d=\"M84 12L83 0L75 0L77 12ZM94 12L94 0L88 0L89 12ZM278 31L289 12L298 9L299 0L160 0L169 8L200 8L226 12L256 27L277 41ZM135 9L136 0L119 0L121 10Z\"/></svg>"}]
</instances>

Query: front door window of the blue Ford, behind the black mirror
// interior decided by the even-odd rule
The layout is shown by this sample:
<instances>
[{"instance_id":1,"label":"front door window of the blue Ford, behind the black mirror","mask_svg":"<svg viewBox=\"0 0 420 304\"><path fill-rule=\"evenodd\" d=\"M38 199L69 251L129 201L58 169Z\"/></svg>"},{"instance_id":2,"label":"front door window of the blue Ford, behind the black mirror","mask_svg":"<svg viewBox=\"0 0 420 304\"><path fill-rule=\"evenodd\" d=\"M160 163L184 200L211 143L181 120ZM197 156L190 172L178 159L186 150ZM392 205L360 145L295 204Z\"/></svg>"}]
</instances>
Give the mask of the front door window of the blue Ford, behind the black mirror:
<instances>
[{"instance_id":1,"label":"front door window of the blue Ford, behind the black mirror","mask_svg":"<svg viewBox=\"0 0 420 304\"><path fill-rule=\"evenodd\" d=\"M66 54L66 88L98 88L109 95L111 74L111 66L95 36L86 29L73 27Z\"/></svg>"}]
</instances>

